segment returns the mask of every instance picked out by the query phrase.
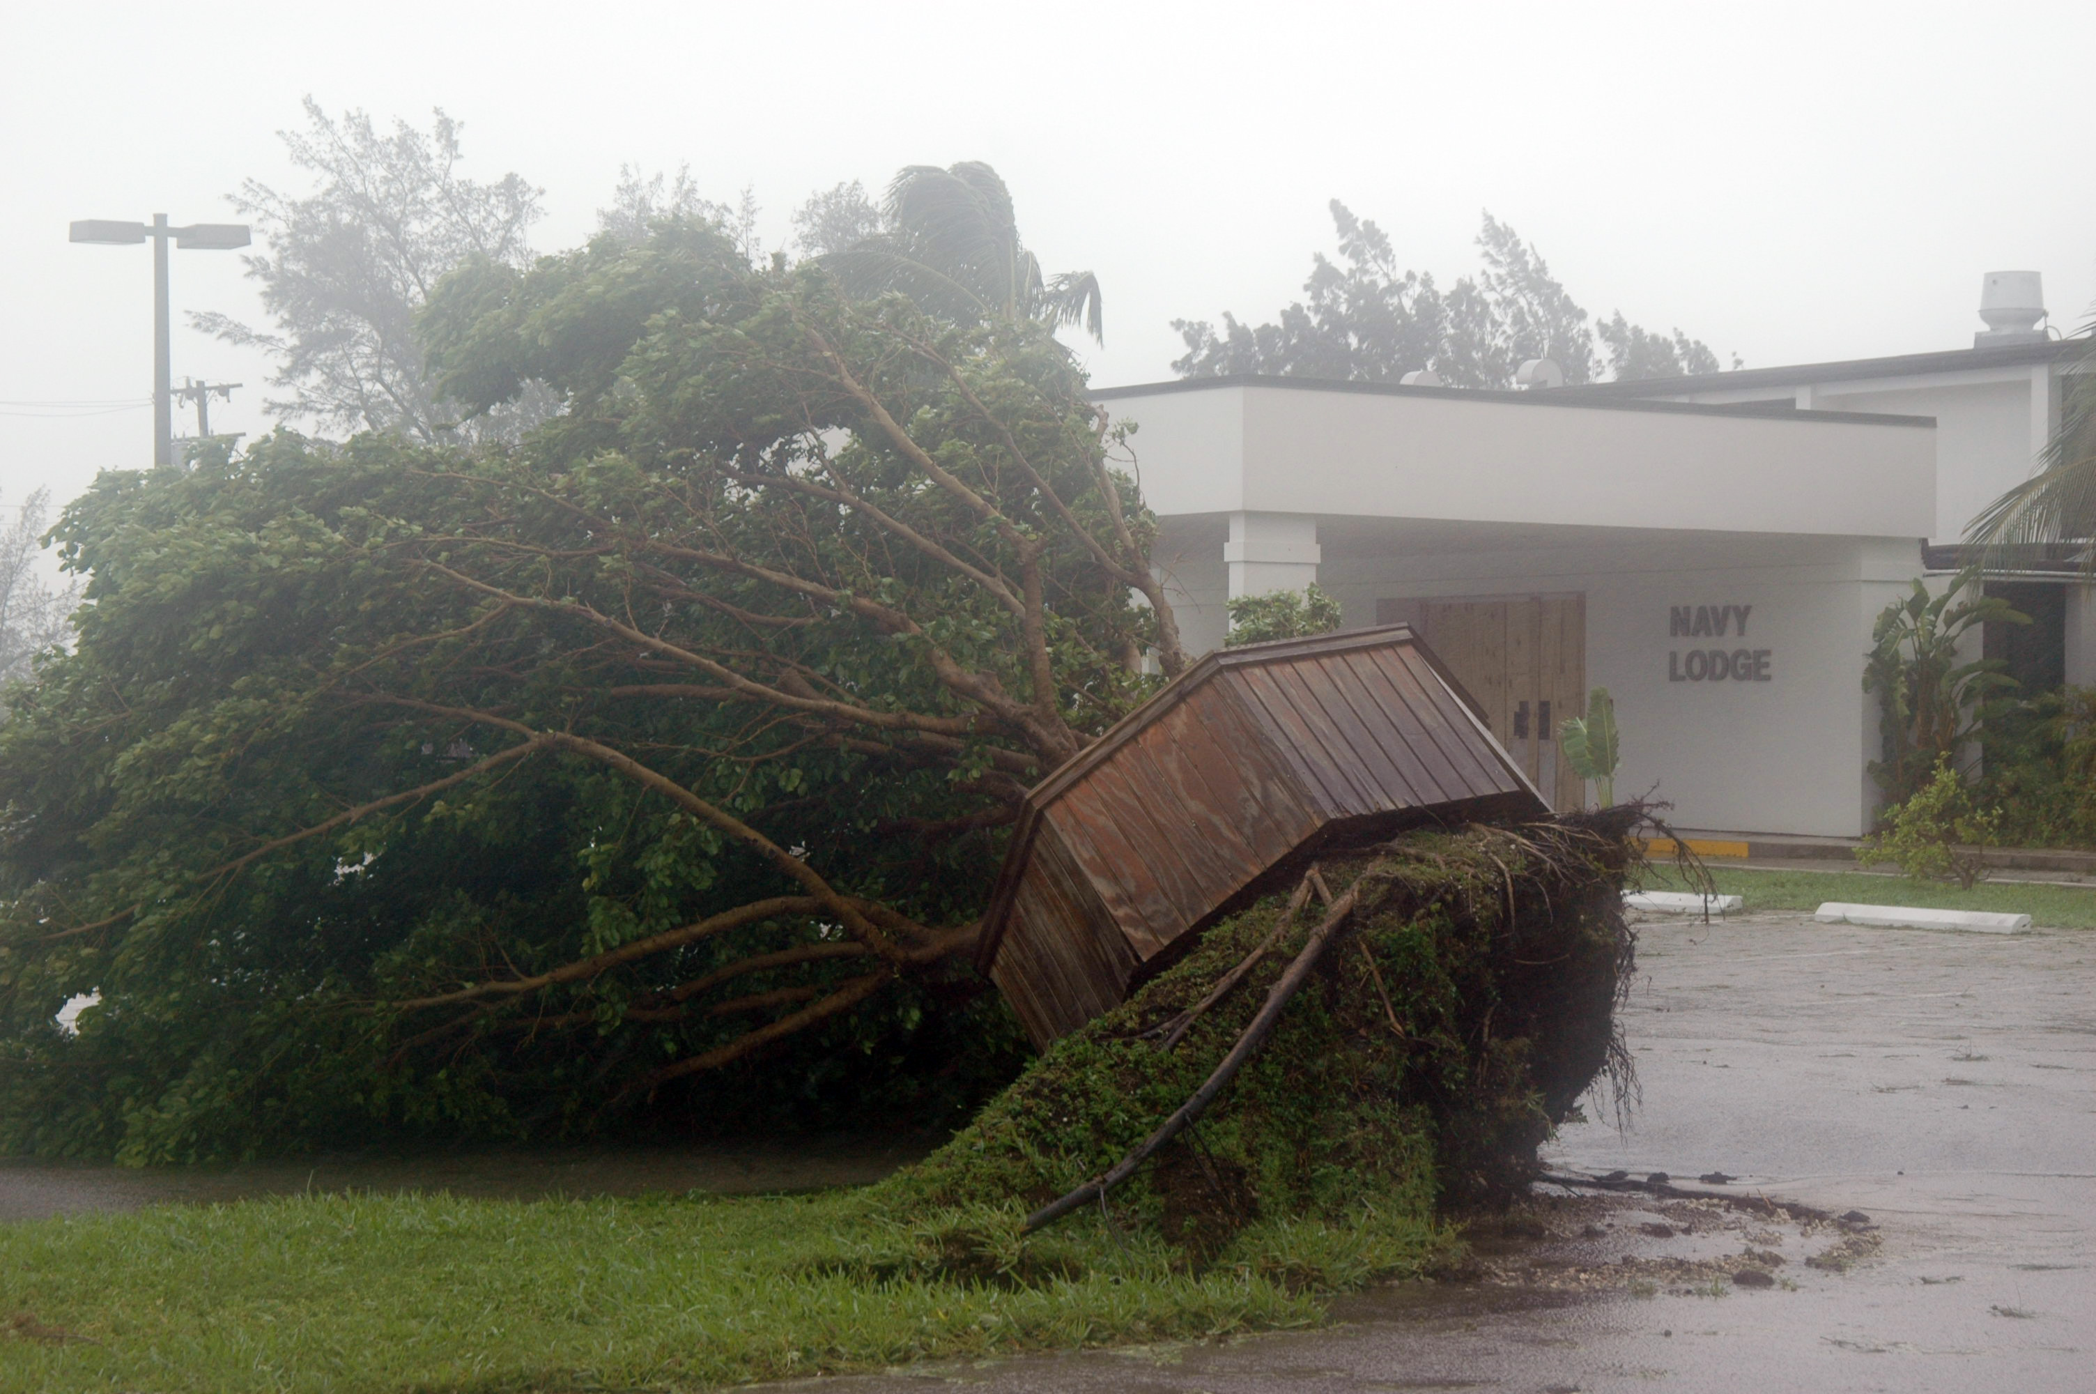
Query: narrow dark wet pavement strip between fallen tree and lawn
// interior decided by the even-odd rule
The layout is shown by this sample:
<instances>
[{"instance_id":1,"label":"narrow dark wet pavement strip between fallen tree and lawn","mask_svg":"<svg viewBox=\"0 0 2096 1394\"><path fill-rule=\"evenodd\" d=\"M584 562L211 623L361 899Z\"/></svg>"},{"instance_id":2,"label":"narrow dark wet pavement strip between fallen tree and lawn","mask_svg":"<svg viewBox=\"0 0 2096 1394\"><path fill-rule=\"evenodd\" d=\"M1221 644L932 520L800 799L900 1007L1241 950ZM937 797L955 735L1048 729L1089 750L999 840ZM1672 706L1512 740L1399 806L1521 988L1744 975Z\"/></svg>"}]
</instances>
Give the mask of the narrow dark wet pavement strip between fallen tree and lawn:
<instances>
[{"instance_id":1,"label":"narrow dark wet pavement strip between fallen tree and lawn","mask_svg":"<svg viewBox=\"0 0 2096 1394\"><path fill-rule=\"evenodd\" d=\"M312 1157L226 1168L111 1168L0 1161L0 1222L163 1203L239 1201L304 1191L449 1191L541 1199L859 1186L916 1161L937 1138L811 1138L648 1149L474 1151L415 1157Z\"/></svg>"}]
</instances>

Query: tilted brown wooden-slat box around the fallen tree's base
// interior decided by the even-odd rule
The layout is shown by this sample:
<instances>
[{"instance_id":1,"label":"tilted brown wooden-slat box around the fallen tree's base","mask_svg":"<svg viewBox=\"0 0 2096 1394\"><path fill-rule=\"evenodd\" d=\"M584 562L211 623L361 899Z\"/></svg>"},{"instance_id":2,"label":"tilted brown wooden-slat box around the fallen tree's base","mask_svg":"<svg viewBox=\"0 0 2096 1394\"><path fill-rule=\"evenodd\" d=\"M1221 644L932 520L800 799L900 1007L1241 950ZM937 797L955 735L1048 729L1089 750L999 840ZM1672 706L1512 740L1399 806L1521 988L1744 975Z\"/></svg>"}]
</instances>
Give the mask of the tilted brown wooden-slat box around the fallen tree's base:
<instances>
[{"instance_id":1,"label":"tilted brown wooden-slat box around the fallen tree's base","mask_svg":"<svg viewBox=\"0 0 2096 1394\"><path fill-rule=\"evenodd\" d=\"M977 964L1046 1046L1316 847L1547 811L1411 625L1218 650L1027 792Z\"/></svg>"}]
</instances>

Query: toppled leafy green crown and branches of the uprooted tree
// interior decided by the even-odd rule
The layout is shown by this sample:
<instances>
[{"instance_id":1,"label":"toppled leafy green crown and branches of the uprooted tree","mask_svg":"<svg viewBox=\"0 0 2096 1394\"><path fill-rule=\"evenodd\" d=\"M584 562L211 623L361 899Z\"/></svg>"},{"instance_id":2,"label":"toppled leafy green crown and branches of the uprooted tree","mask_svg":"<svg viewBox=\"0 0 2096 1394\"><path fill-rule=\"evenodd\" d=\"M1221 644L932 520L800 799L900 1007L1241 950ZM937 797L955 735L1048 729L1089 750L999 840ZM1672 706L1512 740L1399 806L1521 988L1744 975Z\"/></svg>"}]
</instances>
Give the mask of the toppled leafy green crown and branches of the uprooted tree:
<instances>
[{"instance_id":1,"label":"toppled leafy green crown and branches of the uprooted tree","mask_svg":"<svg viewBox=\"0 0 2096 1394\"><path fill-rule=\"evenodd\" d=\"M725 1126L979 1069L956 962L1023 786L1184 665L1067 352L690 222L474 262L430 331L446 394L564 415L61 522L80 646L0 727L0 1132Z\"/></svg>"}]
</instances>

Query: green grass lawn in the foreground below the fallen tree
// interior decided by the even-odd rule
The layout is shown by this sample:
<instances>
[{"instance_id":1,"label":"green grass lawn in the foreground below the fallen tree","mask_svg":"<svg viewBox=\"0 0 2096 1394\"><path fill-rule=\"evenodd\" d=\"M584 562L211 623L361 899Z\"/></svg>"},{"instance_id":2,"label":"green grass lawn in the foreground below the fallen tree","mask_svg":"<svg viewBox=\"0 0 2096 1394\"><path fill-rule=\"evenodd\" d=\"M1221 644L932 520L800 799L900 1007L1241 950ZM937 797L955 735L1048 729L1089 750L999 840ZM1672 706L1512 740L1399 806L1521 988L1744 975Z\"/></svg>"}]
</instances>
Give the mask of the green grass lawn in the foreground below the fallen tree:
<instances>
[{"instance_id":1,"label":"green grass lawn in the foreground below the fallen tree","mask_svg":"<svg viewBox=\"0 0 2096 1394\"><path fill-rule=\"evenodd\" d=\"M1444 1243L1421 1226L1419 1262ZM1316 1323L1320 1285L1369 1277L1344 1235L1295 1247L1188 1277L1079 1216L1021 1283L912 1262L926 1235L851 1191L166 1205L0 1224L0 1390L698 1390L1197 1339Z\"/></svg>"}]
</instances>

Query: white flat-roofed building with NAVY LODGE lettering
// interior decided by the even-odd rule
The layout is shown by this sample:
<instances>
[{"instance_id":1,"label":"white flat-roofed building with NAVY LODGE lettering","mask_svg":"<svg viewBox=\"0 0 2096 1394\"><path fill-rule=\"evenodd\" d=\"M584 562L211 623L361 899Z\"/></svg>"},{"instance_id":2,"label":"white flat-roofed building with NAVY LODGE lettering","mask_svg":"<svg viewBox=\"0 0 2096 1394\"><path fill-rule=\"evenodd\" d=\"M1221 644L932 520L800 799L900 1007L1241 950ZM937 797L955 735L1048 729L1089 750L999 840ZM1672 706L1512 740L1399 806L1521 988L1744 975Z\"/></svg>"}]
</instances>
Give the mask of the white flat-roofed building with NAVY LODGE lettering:
<instances>
[{"instance_id":1,"label":"white flat-roofed building with NAVY LODGE lettering","mask_svg":"<svg viewBox=\"0 0 2096 1394\"><path fill-rule=\"evenodd\" d=\"M1652 788L1689 828L1855 836L1876 809L1872 620L2029 474L2069 361L2033 335L1532 392L1209 377L1096 396L1138 426L1188 650L1222 644L1228 597L1314 581L1348 627L1419 625L1559 805L1578 782L1555 723L1601 685L1618 794ZM2052 587L2073 597L2052 641L2090 681L2096 608Z\"/></svg>"}]
</instances>

